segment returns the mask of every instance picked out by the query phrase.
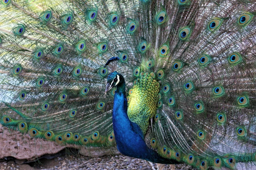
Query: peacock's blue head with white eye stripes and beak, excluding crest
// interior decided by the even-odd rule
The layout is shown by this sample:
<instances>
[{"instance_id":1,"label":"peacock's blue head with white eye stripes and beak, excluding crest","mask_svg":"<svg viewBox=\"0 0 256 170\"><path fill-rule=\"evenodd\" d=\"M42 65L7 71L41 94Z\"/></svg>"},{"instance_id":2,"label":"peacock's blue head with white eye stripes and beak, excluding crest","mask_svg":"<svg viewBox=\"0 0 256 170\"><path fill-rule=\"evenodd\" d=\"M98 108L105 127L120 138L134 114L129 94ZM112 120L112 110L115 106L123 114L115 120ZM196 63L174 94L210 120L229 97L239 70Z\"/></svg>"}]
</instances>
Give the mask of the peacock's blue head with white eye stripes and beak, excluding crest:
<instances>
[{"instance_id":1,"label":"peacock's blue head with white eye stripes and beak, excluding crest","mask_svg":"<svg viewBox=\"0 0 256 170\"><path fill-rule=\"evenodd\" d=\"M116 71L110 73L107 79L107 86L105 90L105 94L113 88L113 87L118 87L119 85L123 84L124 78L121 74L117 73Z\"/></svg>"}]
</instances>

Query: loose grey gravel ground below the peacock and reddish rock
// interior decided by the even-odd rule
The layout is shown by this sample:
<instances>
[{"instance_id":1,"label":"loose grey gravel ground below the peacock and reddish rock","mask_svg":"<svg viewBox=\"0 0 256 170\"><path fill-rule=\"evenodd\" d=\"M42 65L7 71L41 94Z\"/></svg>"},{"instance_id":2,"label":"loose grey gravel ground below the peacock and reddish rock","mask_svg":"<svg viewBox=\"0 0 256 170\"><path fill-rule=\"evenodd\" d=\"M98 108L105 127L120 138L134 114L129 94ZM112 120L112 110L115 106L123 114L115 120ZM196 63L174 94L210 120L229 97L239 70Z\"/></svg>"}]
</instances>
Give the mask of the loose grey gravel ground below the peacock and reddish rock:
<instances>
[{"instance_id":1,"label":"loose grey gravel ground below the peacock and reddish rock","mask_svg":"<svg viewBox=\"0 0 256 170\"><path fill-rule=\"evenodd\" d=\"M157 165L153 164L157 169ZM176 170L195 170L189 165L175 165ZM25 164L16 164L13 160L1 161L1 170L152 170L148 161L134 159L124 155L102 156L90 158L83 155L60 156L54 159L40 159L39 161ZM172 170L165 165L163 170Z\"/></svg>"}]
</instances>

